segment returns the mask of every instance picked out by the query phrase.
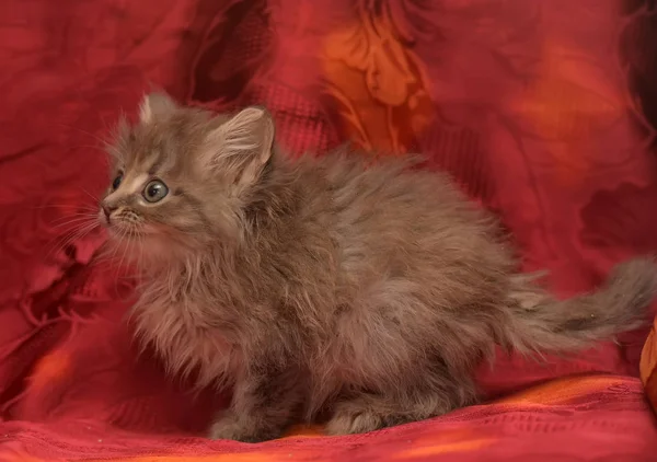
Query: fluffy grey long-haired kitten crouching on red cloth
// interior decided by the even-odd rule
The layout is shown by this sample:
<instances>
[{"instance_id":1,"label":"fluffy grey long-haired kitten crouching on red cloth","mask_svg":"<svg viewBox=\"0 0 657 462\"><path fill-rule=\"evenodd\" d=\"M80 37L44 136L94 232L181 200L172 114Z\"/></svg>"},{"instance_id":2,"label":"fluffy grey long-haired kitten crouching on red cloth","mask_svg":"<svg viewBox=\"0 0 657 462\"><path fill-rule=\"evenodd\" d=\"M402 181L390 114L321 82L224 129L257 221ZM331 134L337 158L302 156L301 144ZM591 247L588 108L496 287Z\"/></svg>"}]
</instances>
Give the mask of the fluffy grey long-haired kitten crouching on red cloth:
<instances>
[{"instance_id":1,"label":"fluffy grey long-haired kitten crouching on red cloth","mask_svg":"<svg viewBox=\"0 0 657 462\"><path fill-rule=\"evenodd\" d=\"M138 335L172 373L234 390L210 438L272 439L325 409L331 435L439 416L477 402L495 344L567 353L647 315L652 259L557 301L446 175L288 159L274 131L260 107L150 94L110 147L100 219L141 272Z\"/></svg>"}]
</instances>

